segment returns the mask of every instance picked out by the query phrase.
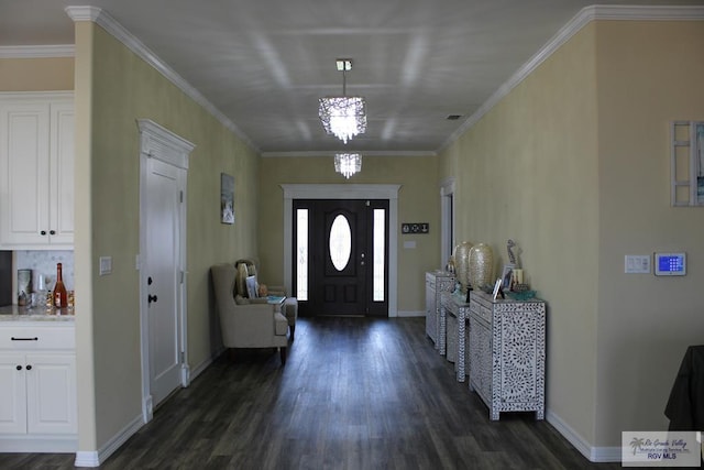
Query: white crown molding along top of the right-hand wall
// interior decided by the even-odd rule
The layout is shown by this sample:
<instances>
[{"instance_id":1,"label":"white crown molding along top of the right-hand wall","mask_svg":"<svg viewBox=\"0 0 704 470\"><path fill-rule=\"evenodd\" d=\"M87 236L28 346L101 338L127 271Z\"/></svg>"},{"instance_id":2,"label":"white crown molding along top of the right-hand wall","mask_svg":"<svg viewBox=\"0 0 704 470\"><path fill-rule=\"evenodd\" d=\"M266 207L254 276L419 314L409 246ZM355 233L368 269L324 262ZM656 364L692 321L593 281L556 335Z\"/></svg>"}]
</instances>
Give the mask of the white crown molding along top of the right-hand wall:
<instances>
[{"instance_id":1,"label":"white crown molding along top of the right-hand wall","mask_svg":"<svg viewBox=\"0 0 704 470\"><path fill-rule=\"evenodd\" d=\"M659 7L659 6L603 6L585 7L562 26L528 62L506 80L480 108L468 118L438 149L438 153L450 146L462 134L477 123L506 95L532 74L548 57L574 36L582 28L595 20L618 21L701 21L704 7Z\"/></svg>"}]
</instances>

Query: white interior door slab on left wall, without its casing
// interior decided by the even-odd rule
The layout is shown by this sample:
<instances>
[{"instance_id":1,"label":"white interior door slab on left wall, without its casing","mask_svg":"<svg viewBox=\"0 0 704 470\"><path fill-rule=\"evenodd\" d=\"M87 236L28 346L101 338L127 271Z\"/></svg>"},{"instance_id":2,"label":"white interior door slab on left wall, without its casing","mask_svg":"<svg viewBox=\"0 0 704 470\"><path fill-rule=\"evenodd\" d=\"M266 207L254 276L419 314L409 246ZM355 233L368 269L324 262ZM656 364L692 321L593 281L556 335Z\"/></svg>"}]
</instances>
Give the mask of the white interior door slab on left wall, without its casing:
<instances>
[{"instance_id":1,"label":"white interior door slab on left wall, without its casing","mask_svg":"<svg viewBox=\"0 0 704 470\"><path fill-rule=\"evenodd\" d=\"M154 406L180 385L178 173L173 165L148 160L145 269Z\"/></svg>"}]
</instances>

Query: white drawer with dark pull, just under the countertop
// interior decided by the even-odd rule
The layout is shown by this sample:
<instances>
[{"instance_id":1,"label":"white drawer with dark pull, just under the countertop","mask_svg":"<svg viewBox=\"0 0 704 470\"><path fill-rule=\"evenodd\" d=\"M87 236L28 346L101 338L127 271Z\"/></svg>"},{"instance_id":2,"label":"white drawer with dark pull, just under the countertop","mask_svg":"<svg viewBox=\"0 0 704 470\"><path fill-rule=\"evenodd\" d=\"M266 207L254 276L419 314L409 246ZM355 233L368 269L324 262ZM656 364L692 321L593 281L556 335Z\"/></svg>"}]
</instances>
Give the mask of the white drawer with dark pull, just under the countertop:
<instances>
[{"instance_id":1,"label":"white drawer with dark pull, just under the countertop","mask_svg":"<svg viewBox=\"0 0 704 470\"><path fill-rule=\"evenodd\" d=\"M76 334L73 325L0 328L0 350L73 350L75 348Z\"/></svg>"}]
</instances>

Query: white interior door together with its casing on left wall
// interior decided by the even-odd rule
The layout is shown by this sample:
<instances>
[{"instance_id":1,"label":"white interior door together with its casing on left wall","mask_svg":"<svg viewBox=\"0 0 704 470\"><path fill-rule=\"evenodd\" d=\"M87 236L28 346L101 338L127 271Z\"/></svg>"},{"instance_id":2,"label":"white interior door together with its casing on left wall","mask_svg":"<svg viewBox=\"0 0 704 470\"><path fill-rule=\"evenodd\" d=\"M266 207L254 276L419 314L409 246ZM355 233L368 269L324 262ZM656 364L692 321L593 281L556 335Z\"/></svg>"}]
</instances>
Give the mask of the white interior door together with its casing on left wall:
<instances>
[{"instance_id":1,"label":"white interior door together with its casing on left wall","mask_svg":"<svg viewBox=\"0 0 704 470\"><path fill-rule=\"evenodd\" d=\"M142 414L147 423L154 406L190 380L186 349L186 182L194 144L151 120L138 120L138 127Z\"/></svg>"}]
</instances>

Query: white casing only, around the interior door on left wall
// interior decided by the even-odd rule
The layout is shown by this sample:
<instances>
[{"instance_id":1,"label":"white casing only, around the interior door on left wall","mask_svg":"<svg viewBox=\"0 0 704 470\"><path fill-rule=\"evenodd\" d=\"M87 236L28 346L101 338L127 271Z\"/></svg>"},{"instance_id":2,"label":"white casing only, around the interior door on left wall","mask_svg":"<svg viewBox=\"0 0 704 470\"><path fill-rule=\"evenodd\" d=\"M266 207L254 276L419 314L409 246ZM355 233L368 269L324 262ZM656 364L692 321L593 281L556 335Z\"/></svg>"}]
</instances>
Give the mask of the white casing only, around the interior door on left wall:
<instances>
[{"instance_id":1,"label":"white casing only, around the interior door on left wall","mask_svg":"<svg viewBox=\"0 0 704 470\"><path fill-rule=\"evenodd\" d=\"M195 145L169 130L161 127L156 122L148 119L139 119L136 121L140 130L140 195L146 194L147 183L147 162L148 159L157 159L169 165L174 165L184 170L183 176L179 177L179 189L182 193L182 199L186 198L186 182L188 175L188 156L195 149ZM178 260L178 266L180 270L180 285L178 292L178 316L179 316L179 342L182 351L182 385L188 386L190 382L190 370L188 368L188 354L187 354L187 332L188 326L187 319L187 283L186 283L186 204L180 204L179 214L179 248L178 253L180 260ZM148 423L153 416L153 401L151 393L151 367L150 367L150 323L148 323L148 304L147 304L147 288L146 276L147 270L142 269L142 263L147 260L147 240L146 240L146 205L143 197L140 198L140 254L136 258L136 267L140 270L140 327L142 346L142 418L144 423Z\"/></svg>"}]
</instances>

